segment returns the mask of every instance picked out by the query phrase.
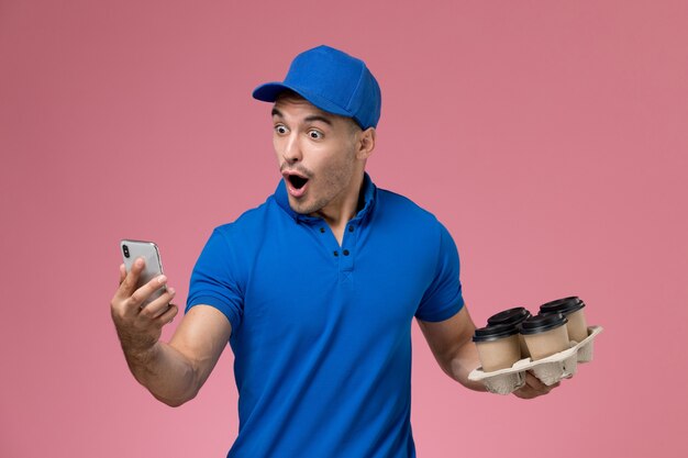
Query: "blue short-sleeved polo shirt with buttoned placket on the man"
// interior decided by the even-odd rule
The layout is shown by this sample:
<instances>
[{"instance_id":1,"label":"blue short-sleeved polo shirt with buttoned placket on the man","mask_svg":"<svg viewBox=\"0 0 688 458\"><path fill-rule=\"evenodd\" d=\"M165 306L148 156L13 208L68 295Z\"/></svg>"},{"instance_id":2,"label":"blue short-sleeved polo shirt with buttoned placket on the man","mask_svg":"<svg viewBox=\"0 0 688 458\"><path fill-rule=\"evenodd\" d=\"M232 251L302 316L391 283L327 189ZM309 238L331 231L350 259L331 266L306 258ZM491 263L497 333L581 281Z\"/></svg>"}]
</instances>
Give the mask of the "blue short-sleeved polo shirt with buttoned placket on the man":
<instances>
[{"instance_id":1,"label":"blue short-sleeved polo shirt with buttoned placket on the man","mask_svg":"<svg viewBox=\"0 0 688 458\"><path fill-rule=\"evenodd\" d=\"M260 206L214 230L187 311L232 324L238 437L228 457L414 457L411 322L464 304L446 228L366 175L342 245L293 212L284 181Z\"/></svg>"}]
</instances>

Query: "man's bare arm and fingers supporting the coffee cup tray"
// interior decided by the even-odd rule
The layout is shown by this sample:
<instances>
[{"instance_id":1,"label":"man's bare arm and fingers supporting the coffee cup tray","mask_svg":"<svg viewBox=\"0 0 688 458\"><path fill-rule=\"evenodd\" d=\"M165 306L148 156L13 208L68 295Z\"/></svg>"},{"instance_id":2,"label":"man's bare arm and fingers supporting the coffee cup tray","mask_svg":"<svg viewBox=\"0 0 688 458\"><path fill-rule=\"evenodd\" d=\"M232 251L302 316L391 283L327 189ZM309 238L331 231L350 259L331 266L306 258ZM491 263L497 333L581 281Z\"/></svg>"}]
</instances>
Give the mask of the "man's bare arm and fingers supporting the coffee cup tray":
<instances>
[{"instance_id":1,"label":"man's bare arm and fingers supporting the coffee cup tray","mask_svg":"<svg viewBox=\"0 0 688 458\"><path fill-rule=\"evenodd\" d=\"M486 391L479 381L468 380L468 375L480 366L476 345L473 343L475 324L464 306L448 320L433 323L419 320L425 340L432 350L442 370L463 384L475 391ZM513 392L522 399L532 399L547 394L558 382L547 387L530 372L525 373L525 384Z\"/></svg>"}]
</instances>

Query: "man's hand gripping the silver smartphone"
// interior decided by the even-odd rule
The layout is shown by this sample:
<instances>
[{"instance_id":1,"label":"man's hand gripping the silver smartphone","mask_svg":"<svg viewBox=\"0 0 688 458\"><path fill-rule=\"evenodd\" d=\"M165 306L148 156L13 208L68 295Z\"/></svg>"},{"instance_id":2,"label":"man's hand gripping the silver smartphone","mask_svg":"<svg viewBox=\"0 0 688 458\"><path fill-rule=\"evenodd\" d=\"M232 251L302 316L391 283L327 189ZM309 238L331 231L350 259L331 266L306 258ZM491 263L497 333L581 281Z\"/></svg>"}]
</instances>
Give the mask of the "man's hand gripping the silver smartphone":
<instances>
[{"instance_id":1,"label":"man's hand gripping the silver smartphone","mask_svg":"<svg viewBox=\"0 0 688 458\"><path fill-rule=\"evenodd\" d=\"M151 294L167 283L167 278L159 276L136 289L144 267L143 258L134 261L129 273L124 265L120 266L120 288L110 302L112 321L130 366L132 358L140 362L146 359L160 338L163 326L171 323L178 312L177 305L169 303L175 297L173 288L167 288L163 295L142 306Z\"/></svg>"}]
</instances>

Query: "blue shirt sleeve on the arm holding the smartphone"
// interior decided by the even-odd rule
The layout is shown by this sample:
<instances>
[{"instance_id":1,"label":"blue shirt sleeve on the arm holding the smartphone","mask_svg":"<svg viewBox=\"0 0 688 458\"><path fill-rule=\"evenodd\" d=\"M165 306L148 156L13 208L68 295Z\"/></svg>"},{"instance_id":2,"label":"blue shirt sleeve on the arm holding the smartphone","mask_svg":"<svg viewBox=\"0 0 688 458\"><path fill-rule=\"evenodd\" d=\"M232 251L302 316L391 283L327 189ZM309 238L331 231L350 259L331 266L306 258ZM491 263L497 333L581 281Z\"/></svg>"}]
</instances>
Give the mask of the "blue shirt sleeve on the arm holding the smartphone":
<instances>
[{"instance_id":1,"label":"blue shirt sleeve on the arm holding the smartphone","mask_svg":"<svg viewBox=\"0 0 688 458\"><path fill-rule=\"evenodd\" d=\"M193 305L211 305L226 316L232 329L237 329L243 316L244 293L237 277L241 262L230 242L228 226L213 231L191 272L185 313Z\"/></svg>"}]
</instances>

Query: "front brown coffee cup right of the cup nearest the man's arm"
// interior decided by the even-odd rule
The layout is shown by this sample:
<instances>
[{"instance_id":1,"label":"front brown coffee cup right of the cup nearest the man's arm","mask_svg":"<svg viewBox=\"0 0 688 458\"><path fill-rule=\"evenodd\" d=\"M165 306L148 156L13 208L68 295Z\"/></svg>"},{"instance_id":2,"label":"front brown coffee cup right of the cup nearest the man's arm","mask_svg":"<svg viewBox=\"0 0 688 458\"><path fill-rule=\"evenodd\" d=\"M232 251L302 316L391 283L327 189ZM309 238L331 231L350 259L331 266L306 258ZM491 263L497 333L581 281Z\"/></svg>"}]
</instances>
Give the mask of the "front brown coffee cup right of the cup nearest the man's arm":
<instances>
[{"instance_id":1,"label":"front brown coffee cup right of the cup nearest the man's arm","mask_svg":"<svg viewBox=\"0 0 688 458\"><path fill-rule=\"evenodd\" d=\"M533 361L569 348L566 323L561 313L535 315L521 323L521 334Z\"/></svg>"}]
</instances>

